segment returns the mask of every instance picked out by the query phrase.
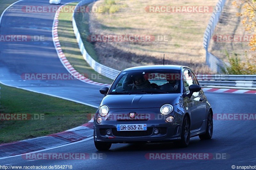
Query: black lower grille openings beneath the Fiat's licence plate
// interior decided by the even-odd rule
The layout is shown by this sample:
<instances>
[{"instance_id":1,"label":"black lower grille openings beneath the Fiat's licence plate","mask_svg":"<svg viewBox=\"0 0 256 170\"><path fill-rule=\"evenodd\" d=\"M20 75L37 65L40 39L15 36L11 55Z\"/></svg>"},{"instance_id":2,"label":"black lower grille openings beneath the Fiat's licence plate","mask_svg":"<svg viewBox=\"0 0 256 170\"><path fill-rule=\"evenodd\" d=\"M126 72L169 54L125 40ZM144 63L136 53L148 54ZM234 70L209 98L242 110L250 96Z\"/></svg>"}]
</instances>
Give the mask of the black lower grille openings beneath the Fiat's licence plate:
<instances>
[{"instance_id":1,"label":"black lower grille openings beneath the Fiat's licence plate","mask_svg":"<svg viewBox=\"0 0 256 170\"><path fill-rule=\"evenodd\" d=\"M166 135L167 128L157 128L159 134ZM107 129L100 129L100 135L105 136ZM153 133L153 128L147 128L147 130L134 130L134 131L117 131L116 128L112 128L112 134L116 137L146 137Z\"/></svg>"}]
</instances>

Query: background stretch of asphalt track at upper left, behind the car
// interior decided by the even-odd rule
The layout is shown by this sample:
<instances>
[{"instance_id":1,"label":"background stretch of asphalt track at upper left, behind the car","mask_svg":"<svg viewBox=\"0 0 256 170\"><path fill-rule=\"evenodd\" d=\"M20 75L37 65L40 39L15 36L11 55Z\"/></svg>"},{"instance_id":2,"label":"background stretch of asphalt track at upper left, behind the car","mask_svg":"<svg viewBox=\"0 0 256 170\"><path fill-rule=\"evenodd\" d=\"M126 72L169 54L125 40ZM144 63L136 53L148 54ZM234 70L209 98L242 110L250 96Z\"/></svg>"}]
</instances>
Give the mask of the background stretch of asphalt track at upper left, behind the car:
<instances>
[{"instance_id":1,"label":"background stretch of asphalt track at upper left, behind the car","mask_svg":"<svg viewBox=\"0 0 256 170\"><path fill-rule=\"evenodd\" d=\"M71 1L63 0L61 5ZM80 80L23 80L23 73L68 73L52 41L55 13L25 13L23 6L49 6L48 0L25 0L10 7L2 18L2 35L40 35L45 41L0 42L0 81L7 85L57 95L99 106L101 86Z\"/></svg>"}]
</instances>

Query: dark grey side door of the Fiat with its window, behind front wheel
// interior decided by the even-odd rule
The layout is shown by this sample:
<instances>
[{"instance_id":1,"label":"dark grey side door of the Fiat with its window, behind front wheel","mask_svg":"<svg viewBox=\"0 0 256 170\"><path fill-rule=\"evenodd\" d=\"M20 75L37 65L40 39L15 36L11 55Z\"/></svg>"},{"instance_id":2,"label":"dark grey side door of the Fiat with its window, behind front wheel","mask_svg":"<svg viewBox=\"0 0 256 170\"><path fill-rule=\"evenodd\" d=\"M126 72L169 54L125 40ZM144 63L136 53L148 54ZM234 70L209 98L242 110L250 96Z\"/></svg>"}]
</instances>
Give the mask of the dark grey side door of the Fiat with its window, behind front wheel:
<instances>
[{"instance_id":1,"label":"dark grey side door of the Fiat with its window, behind front wheel","mask_svg":"<svg viewBox=\"0 0 256 170\"><path fill-rule=\"evenodd\" d=\"M194 74L191 70L186 69L183 71L184 94L189 93L190 85L196 85L198 83L193 76ZM191 130L200 128L203 122L202 116L205 115L205 103L201 98L201 91L194 92L190 99L188 97L183 98L184 107L188 107L188 110L190 110Z\"/></svg>"}]
</instances>

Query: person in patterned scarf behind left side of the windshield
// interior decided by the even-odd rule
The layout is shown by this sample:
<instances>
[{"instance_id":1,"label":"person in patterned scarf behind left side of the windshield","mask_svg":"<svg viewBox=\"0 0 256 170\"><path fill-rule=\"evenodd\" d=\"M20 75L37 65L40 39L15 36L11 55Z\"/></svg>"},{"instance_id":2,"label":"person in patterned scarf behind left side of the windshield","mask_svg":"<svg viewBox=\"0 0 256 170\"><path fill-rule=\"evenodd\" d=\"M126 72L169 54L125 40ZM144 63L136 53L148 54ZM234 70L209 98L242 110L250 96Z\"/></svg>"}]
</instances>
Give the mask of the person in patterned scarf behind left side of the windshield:
<instances>
[{"instance_id":1,"label":"person in patterned scarf behind left side of the windshield","mask_svg":"<svg viewBox=\"0 0 256 170\"><path fill-rule=\"evenodd\" d=\"M132 83L131 83L132 79ZM131 83L131 84L129 84ZM150 82L144 78L144 76L141 74L139 75L133 75L132 77L126 77L124 79L123 89L125 90L137 90L137 89L150 89Z\"/></svg>"}]
</instances>

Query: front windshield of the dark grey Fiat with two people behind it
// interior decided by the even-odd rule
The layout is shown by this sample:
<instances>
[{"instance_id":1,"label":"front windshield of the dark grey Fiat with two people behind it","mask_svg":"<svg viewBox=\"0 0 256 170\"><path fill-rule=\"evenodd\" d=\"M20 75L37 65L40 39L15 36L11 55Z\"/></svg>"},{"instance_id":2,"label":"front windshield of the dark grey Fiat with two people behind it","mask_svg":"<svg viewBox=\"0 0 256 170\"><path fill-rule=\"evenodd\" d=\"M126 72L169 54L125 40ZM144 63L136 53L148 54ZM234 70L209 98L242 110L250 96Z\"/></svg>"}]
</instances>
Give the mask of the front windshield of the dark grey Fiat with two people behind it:
<instances>
[{"instance_id":1,"label":"front windshield of the dark grey Fiat with two people behind it","mask_svg":"<svg viewBox=\"0 0 256 170\"><path fill-rule=\"evenodd\" d=\"M121 72L109 94L180 93L180 70L132 70Z\"/></svg>"}]
</instances>

